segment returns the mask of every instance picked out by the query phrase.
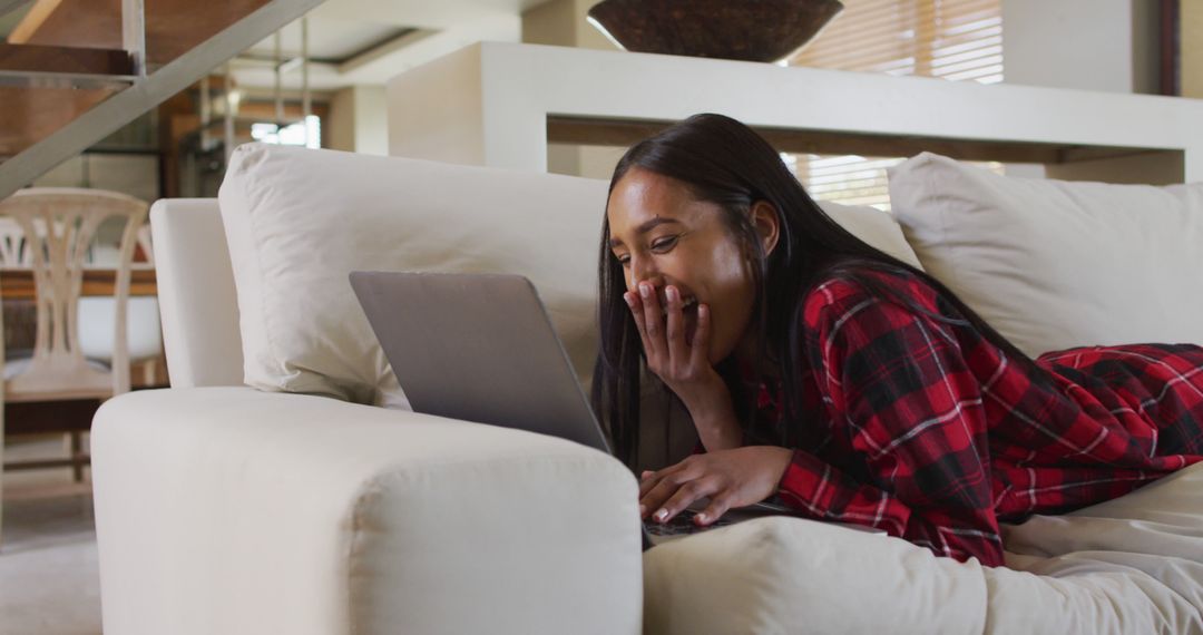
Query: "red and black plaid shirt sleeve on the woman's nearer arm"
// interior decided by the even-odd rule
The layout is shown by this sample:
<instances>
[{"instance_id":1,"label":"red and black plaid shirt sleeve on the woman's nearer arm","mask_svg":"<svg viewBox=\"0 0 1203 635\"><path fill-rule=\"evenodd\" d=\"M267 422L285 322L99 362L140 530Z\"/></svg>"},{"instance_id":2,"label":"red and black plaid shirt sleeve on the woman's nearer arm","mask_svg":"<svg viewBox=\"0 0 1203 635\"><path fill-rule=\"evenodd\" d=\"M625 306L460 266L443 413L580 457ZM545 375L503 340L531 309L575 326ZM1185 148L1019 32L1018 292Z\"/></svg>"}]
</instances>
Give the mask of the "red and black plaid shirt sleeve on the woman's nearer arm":
<instances>
[{"instance_id":1,"label":"red and black plaid shirt sleeve on the woman's nearer arm","mask_svg":"<svg viewBox=\"0 0 1203 635\"><path fill-rule=\"evenodd\" d=\"M1001 565L979 384L947 325L853 283L816 295L807 355L852 459L841 470L796 451L782 499L816 518Z\"/></svg>"}]
</instances>

